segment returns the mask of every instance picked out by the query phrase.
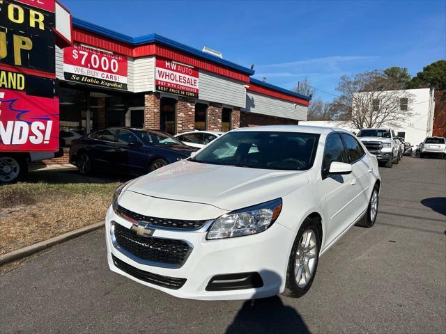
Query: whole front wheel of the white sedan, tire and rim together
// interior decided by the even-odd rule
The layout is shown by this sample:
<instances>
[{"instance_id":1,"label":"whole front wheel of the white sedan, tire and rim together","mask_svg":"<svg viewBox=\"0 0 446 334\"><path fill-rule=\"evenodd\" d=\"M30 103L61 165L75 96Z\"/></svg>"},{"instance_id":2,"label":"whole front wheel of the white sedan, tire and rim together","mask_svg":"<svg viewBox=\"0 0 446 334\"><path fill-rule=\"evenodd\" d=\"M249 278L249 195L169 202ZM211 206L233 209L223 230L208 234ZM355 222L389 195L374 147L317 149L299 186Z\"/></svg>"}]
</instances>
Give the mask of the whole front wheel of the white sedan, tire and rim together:
<instances>
[{"instance_id":1,"label":"whole front wheel of the white sedan, tire and rim together","mask_svg":"<svg viewBox=\"0 0 446 334\"><path fill-rule=\"evenodd\" d=\"M299 298L312 286L321 250L317 223L317 218L305 219L295 238L286 271L285 296Z\"/></svg>"}]
</instances>

